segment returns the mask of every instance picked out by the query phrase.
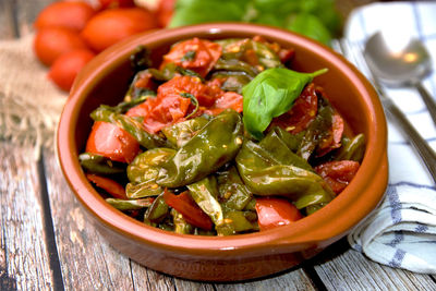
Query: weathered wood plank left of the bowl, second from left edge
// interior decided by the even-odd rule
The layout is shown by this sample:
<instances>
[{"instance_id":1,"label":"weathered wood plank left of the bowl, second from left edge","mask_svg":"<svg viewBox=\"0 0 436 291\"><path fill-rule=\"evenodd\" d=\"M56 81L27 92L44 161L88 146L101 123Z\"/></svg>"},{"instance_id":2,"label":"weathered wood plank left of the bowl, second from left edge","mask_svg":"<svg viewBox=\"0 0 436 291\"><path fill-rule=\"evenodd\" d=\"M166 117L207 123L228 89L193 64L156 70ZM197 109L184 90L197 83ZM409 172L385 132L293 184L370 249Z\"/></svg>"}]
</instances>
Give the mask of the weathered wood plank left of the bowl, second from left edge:
<instances>
[{"instance_id":1,"label":"weathered wood plank left of the bowl, second from left edge","mask_svg":"<svg viewBox=\"0 0 436 291\"><path fill-rule=\"evenodd\" d=\"M86 220L53 151L44 151L47 189L65 290L133 290L130 259Z\"/></svg>"}]
</instances>

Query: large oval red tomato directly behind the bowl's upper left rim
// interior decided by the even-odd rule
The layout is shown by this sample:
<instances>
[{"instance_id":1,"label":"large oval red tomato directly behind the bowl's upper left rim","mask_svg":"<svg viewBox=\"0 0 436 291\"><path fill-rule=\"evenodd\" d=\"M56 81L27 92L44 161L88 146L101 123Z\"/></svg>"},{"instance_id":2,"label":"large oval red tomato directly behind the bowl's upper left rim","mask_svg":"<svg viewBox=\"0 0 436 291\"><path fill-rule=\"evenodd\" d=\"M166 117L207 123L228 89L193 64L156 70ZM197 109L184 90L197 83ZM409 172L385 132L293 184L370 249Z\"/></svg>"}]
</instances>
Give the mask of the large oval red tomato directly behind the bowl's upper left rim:
<instances>
[{"instance_id":1,"label":"large oval red tomato directly behind the bowl's upper left rim","mask_svg":"<svg viewBox=\"0 0 436 291\"><path fill-rule=\"evenodd\" d=\"M142 8L109 9L96 14L82 31L86 44L96 51L148 29L157 28L156 16Z\"/></svg>"}]
</instances>

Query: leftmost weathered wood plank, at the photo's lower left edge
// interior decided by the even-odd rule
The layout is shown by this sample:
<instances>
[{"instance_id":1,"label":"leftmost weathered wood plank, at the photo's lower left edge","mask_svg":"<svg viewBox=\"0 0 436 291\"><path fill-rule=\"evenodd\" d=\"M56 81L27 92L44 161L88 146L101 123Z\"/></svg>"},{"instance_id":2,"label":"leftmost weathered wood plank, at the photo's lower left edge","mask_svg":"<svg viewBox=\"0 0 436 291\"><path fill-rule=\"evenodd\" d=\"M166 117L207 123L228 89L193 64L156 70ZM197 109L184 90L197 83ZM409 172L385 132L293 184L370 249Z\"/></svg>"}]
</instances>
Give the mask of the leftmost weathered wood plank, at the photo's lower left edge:
<instances>
[{"instance_id":1,"label":"leftmost weathered wood plank, at the photo's lower left edge","mask_svg":"<svg viewBox=\"0 0 436 291\"><path fill-rule=\"evenodd\" d=\"M1 142L0 290L52 288L38 169L32 155Z\"/></svg>"}]
</instances>

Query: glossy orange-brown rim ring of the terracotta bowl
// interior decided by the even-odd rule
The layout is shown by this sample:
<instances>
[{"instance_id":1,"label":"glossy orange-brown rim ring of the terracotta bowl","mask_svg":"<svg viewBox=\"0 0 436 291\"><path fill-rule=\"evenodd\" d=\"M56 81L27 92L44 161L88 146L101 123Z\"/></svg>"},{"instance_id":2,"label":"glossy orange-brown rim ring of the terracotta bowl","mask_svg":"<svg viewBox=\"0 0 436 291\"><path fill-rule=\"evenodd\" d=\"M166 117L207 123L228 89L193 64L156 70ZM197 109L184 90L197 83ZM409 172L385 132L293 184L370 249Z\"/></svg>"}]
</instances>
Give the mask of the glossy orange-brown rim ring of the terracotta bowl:
<instances>
[{"instance_id":1,"label":"glossy orange-brown rim ring of the terracotta bowl","mask_svg":"<svg viewBox=\"0 0 436 291\"><path fill-rule=\"evenodd\" d=\"M238 35L241 32L263 35L267 38L268 35L275 34L275 38L291 40L314 53L323 53L328 62L352 80L356 90L362 95L373 124L368 129L370 138L366 141L365 157L353 181L327 206L304 219L265 232L233 237L199 237L164 231L146 226L107 204L86 180L74 145L75 122L78 118L76 108L83 105L87 94L98 84L106 74L105 72L114 70L125 61L126 56L136 47L135 44L160 44L168 38L183 39L202 34ZM209 256L216 254L217 251L242 255L246 254L246 250L254 254L256 251L265 252L268 247L269 252L275 253L280 250L292 252L322 246L323 242L329 244L328 242L331 243L343 237L366 217L380 202L387 186L387 125L378 96L368 81L358 69L330 48L289 31L255 24L209 23L143 33L105 50L88 63L74 83L58 125L57 147L60 166L70 187L82 205L99 222L136 242L193 255ZM372 162L373 160L377 162ZM359 189L362 191L358 191ZM365 195L360 195L362 192ZM335 226L335 229L331 226Z\"/></svg>"}]
</instances>

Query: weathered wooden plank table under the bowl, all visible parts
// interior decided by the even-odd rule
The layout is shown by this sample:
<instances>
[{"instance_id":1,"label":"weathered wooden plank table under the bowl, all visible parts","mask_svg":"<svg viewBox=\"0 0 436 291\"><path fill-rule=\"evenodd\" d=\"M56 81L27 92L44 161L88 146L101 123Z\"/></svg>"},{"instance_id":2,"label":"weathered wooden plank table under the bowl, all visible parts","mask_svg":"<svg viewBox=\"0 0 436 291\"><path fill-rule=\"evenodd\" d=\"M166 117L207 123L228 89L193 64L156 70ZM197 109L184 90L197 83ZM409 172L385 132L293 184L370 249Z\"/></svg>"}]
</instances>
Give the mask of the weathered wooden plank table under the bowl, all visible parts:
<instances>
[{"instance_id":1,"label":"weathered wooden plank table under the bowl, all visible parts","mask_svg":"<svg viewBox=\"0 0 436 291\"><path fill-rule=\"evenodd\" d=\"M0 38L32 32L49 2L0 0ZM262 280L202 283L156 272L113 250L85 220L53 146L34 161L26 149L0 143L0 290L436 290L436 277L373 263L346 240Z\"/></svg>"}]
</instances>

